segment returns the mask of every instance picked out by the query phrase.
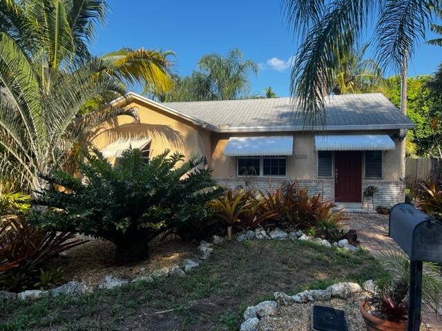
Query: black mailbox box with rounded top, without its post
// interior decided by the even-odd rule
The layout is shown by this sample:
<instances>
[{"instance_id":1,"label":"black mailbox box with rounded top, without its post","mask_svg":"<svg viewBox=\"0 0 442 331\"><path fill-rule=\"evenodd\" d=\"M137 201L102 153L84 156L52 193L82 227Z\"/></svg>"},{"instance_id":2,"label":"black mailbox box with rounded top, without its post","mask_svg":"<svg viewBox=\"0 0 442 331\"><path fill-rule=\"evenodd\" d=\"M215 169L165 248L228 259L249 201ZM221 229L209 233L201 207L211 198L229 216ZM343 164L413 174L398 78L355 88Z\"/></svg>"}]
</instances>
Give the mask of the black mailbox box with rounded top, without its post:
<instances>
[{"instance_id":1,"label":"black mailbox box with rounded top, without its post","mask_svg":"<svg viewBox=\"0 0 442 331\"><path fill-rule=\"evenodd\" d=\"M390 211L390 237L410 261L442 262L442 222L408 203L399 203Z\"/></svg>"}]
</instances>

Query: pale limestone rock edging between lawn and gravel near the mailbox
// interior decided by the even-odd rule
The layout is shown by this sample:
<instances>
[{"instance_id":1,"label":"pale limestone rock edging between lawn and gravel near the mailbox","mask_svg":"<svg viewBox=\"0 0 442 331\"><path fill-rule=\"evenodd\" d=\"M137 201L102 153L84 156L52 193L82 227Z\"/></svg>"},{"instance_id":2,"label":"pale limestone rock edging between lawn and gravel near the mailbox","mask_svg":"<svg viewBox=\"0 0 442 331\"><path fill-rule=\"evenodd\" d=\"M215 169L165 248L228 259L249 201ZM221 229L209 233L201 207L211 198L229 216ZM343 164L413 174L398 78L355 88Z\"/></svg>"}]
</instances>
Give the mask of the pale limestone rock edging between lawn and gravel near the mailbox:
<instances>
[{"instance_id":1,"label":"pale limestone rock edging between lawn and gravel near the mailbox","mask_svg":"<svg viewBox=\"0 0 442 331\"><path fill-rule=\"evenodd\" d=\"M301 236L302 237L302 236ZM366 281L363 285L372 285L373 281ZM256 331L260 319L268 315L276 314L278 307L282 305L294 305L315 301L329 301L332 298L347 299L351 294L362 292L363 289L358 283L336 283L330 285L325 290L305 290L294 295L284 292L275 292L274 301L262 301L257 305L247 307L242 315L244 322L240 326L240 331Z\"/></svg>"}]
</instances>

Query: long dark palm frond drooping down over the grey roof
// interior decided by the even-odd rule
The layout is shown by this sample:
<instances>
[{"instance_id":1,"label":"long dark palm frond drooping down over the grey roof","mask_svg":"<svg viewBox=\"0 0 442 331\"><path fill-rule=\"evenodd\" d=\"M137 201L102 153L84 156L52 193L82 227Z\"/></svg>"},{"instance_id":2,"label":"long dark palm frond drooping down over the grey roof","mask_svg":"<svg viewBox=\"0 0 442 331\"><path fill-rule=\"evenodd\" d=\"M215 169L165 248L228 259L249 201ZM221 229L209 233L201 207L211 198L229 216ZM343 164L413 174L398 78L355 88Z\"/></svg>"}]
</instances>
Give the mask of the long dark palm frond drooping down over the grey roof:
<instances>
[{"instance_id":1,"label":"long dark palm frond drooping down over the grey roof","mask_svg":"<svg viewBox=\"0 0 442 331\"><path fill-rule=\"evenodd\" d=\"M372 1L335 0L310 28L291 72L291 95L298 97L300 116L305 127L325 125L325 94L333 86L331 69L354 47L366 22Z\"/></svg>"}]
</instances>

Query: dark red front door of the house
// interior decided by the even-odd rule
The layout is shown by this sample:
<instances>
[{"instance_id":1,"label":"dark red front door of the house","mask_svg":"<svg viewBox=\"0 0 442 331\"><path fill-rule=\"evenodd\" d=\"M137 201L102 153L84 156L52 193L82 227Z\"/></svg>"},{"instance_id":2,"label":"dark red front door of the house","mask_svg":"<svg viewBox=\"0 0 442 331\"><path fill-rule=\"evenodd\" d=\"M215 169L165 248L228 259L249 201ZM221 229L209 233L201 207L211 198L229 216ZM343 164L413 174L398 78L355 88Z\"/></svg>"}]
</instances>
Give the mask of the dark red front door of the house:
<instances>
[{"instance_id":1,"label":"dark red front door of the house","mask_svg":"<svg viewBox=\"0 0 442 331\"><path fill-rule=\"evenodd\" d=\"M362 153L335 152L334 197L338 202L361 202Z\"/></svg>"}]
</instances>

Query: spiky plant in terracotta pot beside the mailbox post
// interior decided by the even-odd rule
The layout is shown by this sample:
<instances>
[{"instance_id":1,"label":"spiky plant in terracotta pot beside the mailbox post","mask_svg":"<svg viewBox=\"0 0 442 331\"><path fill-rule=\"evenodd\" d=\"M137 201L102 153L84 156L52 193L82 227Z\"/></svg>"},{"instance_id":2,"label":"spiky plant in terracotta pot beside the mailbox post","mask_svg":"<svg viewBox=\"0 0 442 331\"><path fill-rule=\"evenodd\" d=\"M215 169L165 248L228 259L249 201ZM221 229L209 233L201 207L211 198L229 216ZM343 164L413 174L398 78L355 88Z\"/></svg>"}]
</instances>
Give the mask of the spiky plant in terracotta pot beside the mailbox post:
<instances>
[{"instance_id":1,"label":"spiky plant in terracotta pot beside the mailbox post","mask_svg":"<svg viewBox=\"0 0 442 331\"><path fill-rule=\"evenodd\" d=\"M390 252L381 259L390 276L376 282L371 297L359 305L367 331L405 331L408 318L408 268L404 254ZM442 297L441 268L436 263L424 263L422 306L434 308Z\"/></svg>"}]
</instances>

